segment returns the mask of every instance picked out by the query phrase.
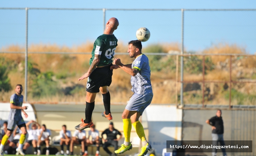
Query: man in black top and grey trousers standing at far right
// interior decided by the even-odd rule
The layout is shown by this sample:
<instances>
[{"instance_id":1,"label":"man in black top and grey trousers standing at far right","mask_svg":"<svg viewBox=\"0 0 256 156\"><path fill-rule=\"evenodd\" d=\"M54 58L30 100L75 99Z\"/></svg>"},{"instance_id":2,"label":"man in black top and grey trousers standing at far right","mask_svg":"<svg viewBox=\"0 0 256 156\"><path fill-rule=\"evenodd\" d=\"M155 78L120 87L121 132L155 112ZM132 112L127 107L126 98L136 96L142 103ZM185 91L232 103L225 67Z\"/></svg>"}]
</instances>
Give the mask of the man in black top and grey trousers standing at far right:
<instances>
[{"instance_id":1,"label":"man in black top and grey trousers standing at far right","mask_svg":"<svg viewBox=\"0 0 256 156\"><path fill-rule=\"evenodd\" d=\"M218 146L218 142L220 142L221 146L225 146L224 139L223 139L223 133L224 133L224 126L223 126L223 120L221 117L221 110L218 109L216 112L216 116L206 120L206 123L211 125L212 129L212 146ZM222 148L223 156L227 156L226 149ZM217 155L217 149L212 148L212 156Z\"/></svg>"}]
</instances>

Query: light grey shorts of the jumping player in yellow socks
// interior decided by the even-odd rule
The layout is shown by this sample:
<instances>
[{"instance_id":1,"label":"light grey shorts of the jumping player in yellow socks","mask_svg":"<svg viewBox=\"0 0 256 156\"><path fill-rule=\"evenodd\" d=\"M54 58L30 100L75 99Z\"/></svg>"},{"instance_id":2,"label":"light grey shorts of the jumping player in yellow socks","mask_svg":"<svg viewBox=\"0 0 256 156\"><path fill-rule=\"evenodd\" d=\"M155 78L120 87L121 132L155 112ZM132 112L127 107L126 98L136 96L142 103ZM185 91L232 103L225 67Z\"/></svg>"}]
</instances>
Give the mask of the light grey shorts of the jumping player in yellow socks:
<instances>
[{"instance_id":1,"label":"light grey shorts of the jumping player in yellow socks","mask_svg":"<svg viewBox=\"0 0 256 156\"><path fill-rule=\"evenodd\" d=\"M125 109L129 111L138 111L142 115L143 111L150 105L153 95L141 95L134 93L126 105Z\"/></svg>"}]
</instances>

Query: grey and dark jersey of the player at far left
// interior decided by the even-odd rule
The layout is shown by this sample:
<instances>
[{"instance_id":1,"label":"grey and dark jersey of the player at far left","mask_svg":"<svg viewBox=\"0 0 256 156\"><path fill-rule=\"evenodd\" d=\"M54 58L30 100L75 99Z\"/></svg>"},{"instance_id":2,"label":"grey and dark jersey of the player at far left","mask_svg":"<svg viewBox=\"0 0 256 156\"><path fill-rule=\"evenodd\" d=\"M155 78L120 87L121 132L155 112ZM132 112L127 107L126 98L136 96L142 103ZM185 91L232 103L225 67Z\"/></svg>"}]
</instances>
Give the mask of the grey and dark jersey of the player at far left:
<instances>
[{"instance_id":1,"label":"grey and dark jersey of the player at far left","mask_svg":"<svg viewBox=\"0 0 256 156\"><path fill-rule=\"evenodd\" d=\"M12 94L10 103L12 103L15 106L22 106L23 96ZM21 119L21 109L11 109L8 120L20 121Z\"/></svg>"}]
</instances>

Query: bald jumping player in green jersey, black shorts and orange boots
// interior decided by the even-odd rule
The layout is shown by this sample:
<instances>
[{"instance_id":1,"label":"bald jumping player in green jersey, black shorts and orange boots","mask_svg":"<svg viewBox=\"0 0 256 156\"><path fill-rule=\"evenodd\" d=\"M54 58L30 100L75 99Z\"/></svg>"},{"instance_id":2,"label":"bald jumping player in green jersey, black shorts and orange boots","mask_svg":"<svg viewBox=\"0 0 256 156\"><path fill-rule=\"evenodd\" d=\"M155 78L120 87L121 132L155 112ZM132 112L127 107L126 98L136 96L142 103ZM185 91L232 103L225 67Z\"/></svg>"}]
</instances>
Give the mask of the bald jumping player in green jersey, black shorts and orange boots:
<instances>
[{"instance_id":1,"label":"bald jumping player in green jersey, black shorts and orange boots","mask_svg":"<svg viewBox=\"0 0 256 156\"><path fill-rule=\"evenodd\" d=\"M80 81L88 77L86 84L85 119L83 120L82 118L82 123L75 126L76 130L83 130L93 126L91 116L95 106L95 97L99 91L102 93L105 107L102 117L112 120L108 87L112 82L113 71L110 67L112 66L112 59L115 55L117 46L117 39L113 32L117 29L118 25L119 22L116 18L112 17L108 20L104 33L94 42L94 47L91 53L92 57L90 59L90 68L78 79L78 81Z\"/></svg>"}]
</instances>

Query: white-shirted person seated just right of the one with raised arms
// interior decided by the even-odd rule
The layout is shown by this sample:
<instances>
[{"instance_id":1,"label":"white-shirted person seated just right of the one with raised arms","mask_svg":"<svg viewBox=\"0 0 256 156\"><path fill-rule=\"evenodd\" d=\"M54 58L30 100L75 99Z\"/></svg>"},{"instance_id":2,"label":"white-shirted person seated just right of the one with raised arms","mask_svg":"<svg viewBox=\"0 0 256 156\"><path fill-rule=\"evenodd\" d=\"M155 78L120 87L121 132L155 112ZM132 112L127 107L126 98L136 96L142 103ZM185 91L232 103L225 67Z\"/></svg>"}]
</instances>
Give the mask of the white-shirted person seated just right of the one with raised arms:
<instances>
[{"instance_id":1,"label":"white-shirted person seated just right of the one with raised arms","mask_svg":"<svg viewBox=\"0 0 256 156\"><path fill-rule=\"evenodd\" d=\"M42 128L37 131L38 142L37 142L37 155L41 155L41 144L45 144L46 147L46 155L49 155L49 142L51 131L46 129L45 125L42 125Z\"/></svg>"}]
</instances>

